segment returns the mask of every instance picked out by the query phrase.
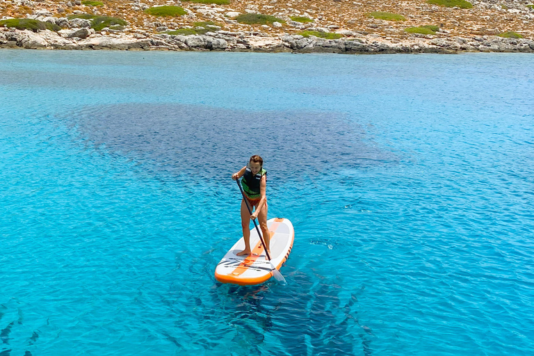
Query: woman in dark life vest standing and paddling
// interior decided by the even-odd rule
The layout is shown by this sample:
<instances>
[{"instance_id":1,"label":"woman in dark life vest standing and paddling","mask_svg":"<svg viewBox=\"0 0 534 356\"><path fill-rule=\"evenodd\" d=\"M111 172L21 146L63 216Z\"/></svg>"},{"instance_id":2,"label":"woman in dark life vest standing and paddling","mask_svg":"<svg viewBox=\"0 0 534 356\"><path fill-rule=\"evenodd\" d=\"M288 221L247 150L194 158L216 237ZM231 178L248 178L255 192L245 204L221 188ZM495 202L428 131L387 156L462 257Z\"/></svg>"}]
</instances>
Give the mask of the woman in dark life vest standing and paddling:
<instances>
[{"instance_id":1,"label":"woman in dark life vest standing and paddling","mask_svg":"<svg viewBox=\"0 0 534 356\"><path fill-rule=\"evenodd\" d=\"M238 256L249 255L252 251L250 249L250 220L258 219L259 227L261 227L261 235L264 237L265 248L270 254L269 249L269 229L267 227L267 197L265 195L265 186L267 181L267 171L264 170L264 160L260 156L254 155L250 157L248 165L241 168L239 172L232 175L232 179L236 180L243 177L241 185L245 193L245 199L241 200L241 227L243 228L243 239L245 240L245 250L238 252ZM250 215L248 212L248 204L250 210L256 208L254 213ZM267 258L267 257L266 257Z\"/></svg>"}]
</instances>

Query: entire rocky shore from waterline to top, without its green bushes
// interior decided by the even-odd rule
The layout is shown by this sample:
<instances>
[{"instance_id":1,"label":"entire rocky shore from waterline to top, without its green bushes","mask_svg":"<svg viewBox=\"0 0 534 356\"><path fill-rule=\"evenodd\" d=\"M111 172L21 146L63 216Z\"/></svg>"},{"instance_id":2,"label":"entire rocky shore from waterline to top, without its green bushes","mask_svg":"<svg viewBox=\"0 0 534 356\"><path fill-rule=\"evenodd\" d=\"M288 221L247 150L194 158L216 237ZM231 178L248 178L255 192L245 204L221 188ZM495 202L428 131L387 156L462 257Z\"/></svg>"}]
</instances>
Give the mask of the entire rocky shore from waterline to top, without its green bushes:
<instances>
[{"instance_id":1,"label":"entire rocky shore from waterline to top, without its green bushes","mask_svg":"<svg viewBox=\"0 0 534 356\"><path fill-rule=\"evenodd\" d=\"M148 1L152 6L156 3L161 6L160 2L165 0ZM435 6L425 0L416 0L417 3L387 3L389 0L375 3L370 0L365 4L351 0L287 1L290 2L232 0L230 8L168 0L167 3L184 6L182 10L186 15L153 17L143 13L143 9L149 6L139 0L133 3L104 1L103 8L84 6L82 3L87 1L65 4L56 0L0 0L0 10L3 8L3 14L7 15L0 19L14 19L15 16L39 22L41 26L55 26L54 31L44 30L44 26L33 31L0 26L0 48L340 54L534 53L534 27L531 26L534 24L534 5L526 4L529 0L506 0L498 6L495 5L497 0L471 0L474 7L467 10ZM387 9L397 6L396 11L406 15L405 20L385 21L369 17L367 11L380 6ZM122 13L122 17L127 18L124 22L127 25L108 26L102 30L95 30L90 20L76 17L101 14L104 10L106 15L117 15L118 10L124 9L127 11ZM22 10L26 13L20 13ZM236 21L236 16L241 13L268 11L284 19L284 24L250 25ZM296 18L293 15L303 15L300 18L307 19L309 23L293 21ZM431 35L405 31L409 26L428 23L437 24ZM516 38L499 35L521 26L522 35L515 33ZM198 29L202 33L198 33ZM195 34L176 30L191 30ZM307 34L305 37L302 31L315 35ZM327 35L335 35L339 39L327 39Z\"/></svg>"}]
</instances>

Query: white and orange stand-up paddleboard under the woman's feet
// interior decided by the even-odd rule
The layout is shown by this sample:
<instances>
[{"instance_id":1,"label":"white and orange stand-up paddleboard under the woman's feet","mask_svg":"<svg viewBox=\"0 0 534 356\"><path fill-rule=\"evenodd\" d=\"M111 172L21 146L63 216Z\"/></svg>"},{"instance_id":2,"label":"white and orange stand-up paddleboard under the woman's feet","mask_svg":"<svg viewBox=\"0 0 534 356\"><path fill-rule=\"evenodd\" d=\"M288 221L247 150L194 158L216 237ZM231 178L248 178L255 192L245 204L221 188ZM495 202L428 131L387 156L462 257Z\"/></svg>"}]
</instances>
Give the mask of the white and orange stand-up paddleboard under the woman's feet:
<instances>
[{"instance_id":1,"label":"white and orange stand-up paddleboard under the woman's feet","mask_svg":"<svg viewBox=\"0 0 534 356\"><path fill-rule=\"evenodd\" d=\"M271 263L280 270L282 264L289 257L295 230L291 221L284 218L267 220L270 232L270 262L266 259L264 247L261 245L256 229L250 230L250 248L252 254L238 256L237 252L245 250L243 237L232 246L220 260L215 269L215 278L219 282L240 285L260 284L273 276Z\"/></svg>"}]
</instances>

